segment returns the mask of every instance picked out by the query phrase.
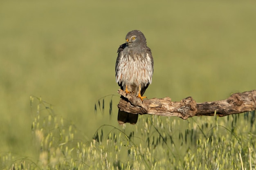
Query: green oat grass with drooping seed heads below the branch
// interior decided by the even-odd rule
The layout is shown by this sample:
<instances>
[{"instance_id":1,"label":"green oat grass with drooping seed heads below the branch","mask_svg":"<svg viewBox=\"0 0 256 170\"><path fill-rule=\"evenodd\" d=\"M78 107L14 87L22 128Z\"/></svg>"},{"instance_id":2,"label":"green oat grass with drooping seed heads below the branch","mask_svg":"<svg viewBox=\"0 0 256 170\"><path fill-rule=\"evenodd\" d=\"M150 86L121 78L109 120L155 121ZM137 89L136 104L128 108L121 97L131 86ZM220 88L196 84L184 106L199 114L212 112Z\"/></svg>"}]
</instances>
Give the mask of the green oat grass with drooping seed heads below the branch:
<instances>
[{"instance_id":1,"label":"green oat grass with drooping seed heads below the branch","mask_svg":"<svg viewBox=\"0 0 256 170\"><path fill-rule=\"evenodd\" d=\"M207 122L191 118L186 124L157 116L141 118L133 128L104 124L85 140L75 124L54 114L51 104L34 97L31 104L30 149L37 156L2 154L3 170L256 169L255 111Z\"/></svg>"}]
</instances>

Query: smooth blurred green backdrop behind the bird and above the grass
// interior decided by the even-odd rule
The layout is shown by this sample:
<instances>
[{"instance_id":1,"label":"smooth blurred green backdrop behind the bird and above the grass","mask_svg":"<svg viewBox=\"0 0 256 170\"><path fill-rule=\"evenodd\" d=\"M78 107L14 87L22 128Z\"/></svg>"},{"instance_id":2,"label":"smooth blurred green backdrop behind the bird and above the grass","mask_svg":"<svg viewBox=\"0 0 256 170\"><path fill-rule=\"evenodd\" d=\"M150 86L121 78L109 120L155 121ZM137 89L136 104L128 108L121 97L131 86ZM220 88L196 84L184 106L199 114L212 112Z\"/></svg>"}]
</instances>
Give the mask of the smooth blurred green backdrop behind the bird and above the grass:
<instances>
[{"instance_id":1,"label":"smooth blurred green backdrop behind the bird and above the grass","mask_svg":"<svg viewBox=\"0 0 256 170\"><path fill-rule=\"evenodd\" d=\"M102 124L121 128L116 52L134 29L146 36L155 61L148 98L205 102L255 89L255 21L252 0L2 0L0 152L35 154L31 95L53 104L81 139ZM112 117L106 109L95 118L94 104L106 95L114 95Z\"/></svg>"}]
</instances>

